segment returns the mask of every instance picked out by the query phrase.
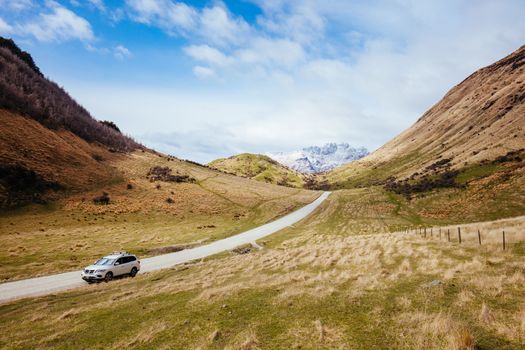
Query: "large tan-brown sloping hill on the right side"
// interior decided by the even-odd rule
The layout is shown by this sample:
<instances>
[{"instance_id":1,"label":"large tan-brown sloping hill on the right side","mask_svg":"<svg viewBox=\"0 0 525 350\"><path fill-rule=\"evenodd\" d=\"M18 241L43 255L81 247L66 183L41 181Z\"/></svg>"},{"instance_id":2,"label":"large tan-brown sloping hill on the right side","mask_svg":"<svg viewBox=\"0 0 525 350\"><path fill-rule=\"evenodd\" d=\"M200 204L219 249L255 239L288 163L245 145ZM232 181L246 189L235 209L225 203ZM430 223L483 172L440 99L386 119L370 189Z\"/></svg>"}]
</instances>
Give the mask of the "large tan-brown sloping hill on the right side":
<instances>
[{"instance_id":1,"label":"large tan-brown sloping hill on the right side","mask_svg":"<svg viewBox=\"0 0 525 350\"><path fill-rule=\"evenodd\" d=\"M525 46L476 71L410 128L327 177L335 188L416 181L436 170L474 172L498 157L519 158L523 148Z\"/></svg>"}]
</instances>

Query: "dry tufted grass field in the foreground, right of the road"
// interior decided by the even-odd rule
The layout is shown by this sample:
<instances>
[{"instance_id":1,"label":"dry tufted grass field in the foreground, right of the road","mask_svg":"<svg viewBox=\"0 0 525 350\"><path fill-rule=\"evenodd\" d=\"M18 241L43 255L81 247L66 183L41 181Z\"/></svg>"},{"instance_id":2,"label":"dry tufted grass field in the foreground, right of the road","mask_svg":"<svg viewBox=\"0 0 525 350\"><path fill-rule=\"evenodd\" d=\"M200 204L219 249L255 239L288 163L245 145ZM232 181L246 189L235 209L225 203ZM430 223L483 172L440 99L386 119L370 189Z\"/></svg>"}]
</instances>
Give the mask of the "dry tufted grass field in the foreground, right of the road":
<instances>
[{"instance_id":1,"label":"dry tufted grass field in the foreground, right of the road","mask_svg":"<svg viewBox=\"0 0 525 350\"><path fill-rule=\"evenodd\" d=\"M333 234L327 206L250 254L2 305L0 346L525 346L523 243L503 252L413 234ZM525 219L480 225L522 232Z\"/></svg>"}]
</instances>

